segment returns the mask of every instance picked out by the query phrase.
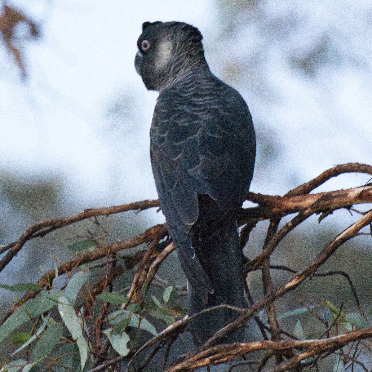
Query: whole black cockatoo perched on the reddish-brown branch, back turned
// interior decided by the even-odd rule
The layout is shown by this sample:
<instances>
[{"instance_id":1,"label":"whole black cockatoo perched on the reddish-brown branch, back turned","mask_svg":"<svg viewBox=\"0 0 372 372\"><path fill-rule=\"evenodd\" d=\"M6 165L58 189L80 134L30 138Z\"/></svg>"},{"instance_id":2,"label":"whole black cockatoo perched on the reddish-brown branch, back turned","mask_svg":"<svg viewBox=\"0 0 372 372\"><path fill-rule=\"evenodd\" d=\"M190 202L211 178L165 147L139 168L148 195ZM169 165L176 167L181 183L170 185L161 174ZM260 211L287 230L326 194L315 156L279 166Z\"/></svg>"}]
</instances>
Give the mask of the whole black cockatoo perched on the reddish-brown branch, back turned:
<instances>
[{"instance_id":1,"label":"whole black cockatoo perched on the reddish-brown branch, back turned","mask_svg":"<svg viewBox=\"0 0 372 372\"><path fill-rule=\"evenodd\" d=\"M236 215L253 177L256 140L246 102L209 70L199 30L145 22L135 68L157 90L150 157L161 209L188 280L189 314L247 307ZM239 315L193 318L195 346ZM240 341L238 330L225 342Z\"/></svg>"}]
</instances>

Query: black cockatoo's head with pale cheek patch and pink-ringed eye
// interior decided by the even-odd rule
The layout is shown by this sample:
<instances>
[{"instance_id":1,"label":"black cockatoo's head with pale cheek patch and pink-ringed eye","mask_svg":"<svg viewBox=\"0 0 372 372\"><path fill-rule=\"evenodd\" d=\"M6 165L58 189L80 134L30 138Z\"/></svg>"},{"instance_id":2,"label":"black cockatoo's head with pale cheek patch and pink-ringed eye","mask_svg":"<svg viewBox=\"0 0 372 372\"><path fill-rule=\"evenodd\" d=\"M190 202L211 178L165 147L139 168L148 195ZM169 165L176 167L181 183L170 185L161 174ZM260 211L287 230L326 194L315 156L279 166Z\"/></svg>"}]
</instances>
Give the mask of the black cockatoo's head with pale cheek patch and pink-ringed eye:
<instances>
[{"instance_id":1,"label":"black cockatoo's head with pale cheek patch and pink-ringed eye","mask_svg":"<svg viewBox=\"0 0 372 372\"><path fill-rule=\"evenodd\" d=\"M200 31L187 23L143 23L134 65L146 88L160 92L193 68L208 67L202 38Z\"/></svg>"}]
</instances>

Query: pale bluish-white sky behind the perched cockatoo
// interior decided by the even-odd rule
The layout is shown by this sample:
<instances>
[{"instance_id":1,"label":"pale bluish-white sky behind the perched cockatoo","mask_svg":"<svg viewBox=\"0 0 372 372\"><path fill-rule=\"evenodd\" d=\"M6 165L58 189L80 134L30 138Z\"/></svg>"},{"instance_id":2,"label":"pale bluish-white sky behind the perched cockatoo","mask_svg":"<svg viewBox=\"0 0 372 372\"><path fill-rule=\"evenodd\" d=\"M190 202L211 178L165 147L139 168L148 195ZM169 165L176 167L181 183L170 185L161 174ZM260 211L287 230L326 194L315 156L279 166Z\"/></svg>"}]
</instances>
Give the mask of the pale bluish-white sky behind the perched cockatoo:
<instances>
[{"instance_id":1,"label":"pale bluish-white sky behind the perched cockatoo","mask_svg":"<svg viewBox=\"0 0 372 372\"><path fill-rule=\"evenodd\" d=\"M0 45L1 166L25 176L60 172L66 198L84 208L157 198L148 155L157 93L148 92L134 70L142 22L182 20L197 26L204 35L206 58L217 75L232 54L260 42L255 31L248 30L231 49L227 45L213 53L221 30L217 3L212 0L58 0L50 7L45 6L48 1L14 3L24 4L25 9L31 6L45 26L40 41L25 44L26 86ZM359 8L350 1L337 2L337 9L315 0L267 3L273 13L299 12L307 20L289 45L305 49L322 28L334 26L333 19L350 17L344 23L355 28L352 22L364 14L363 7L371 9L362 0L357 2ZM368 54L371 28L357 32L360 40L344 47L352 53L366 49ZM236 86L247 100L256 128L264 121L275 131L285 159L275 180L256 174L252 191L283 194L288 180L281 179L281 174L293 172L299 182L305 182L335 164L371 164L372 57L365 69L330 73L325 68L310 79L282 60L280 48L283 44L270 46L264 67L264 76L279 99L274 103L256 100L249 89ZM243 86L246 81L240 83ZM131 93L134 121L128 128L123 122L118 134L108 134L108 107L115 97L125 99ZM350 176L327 187L346 188L366 181L366 177Z\"/></svg>"}]
</instances>

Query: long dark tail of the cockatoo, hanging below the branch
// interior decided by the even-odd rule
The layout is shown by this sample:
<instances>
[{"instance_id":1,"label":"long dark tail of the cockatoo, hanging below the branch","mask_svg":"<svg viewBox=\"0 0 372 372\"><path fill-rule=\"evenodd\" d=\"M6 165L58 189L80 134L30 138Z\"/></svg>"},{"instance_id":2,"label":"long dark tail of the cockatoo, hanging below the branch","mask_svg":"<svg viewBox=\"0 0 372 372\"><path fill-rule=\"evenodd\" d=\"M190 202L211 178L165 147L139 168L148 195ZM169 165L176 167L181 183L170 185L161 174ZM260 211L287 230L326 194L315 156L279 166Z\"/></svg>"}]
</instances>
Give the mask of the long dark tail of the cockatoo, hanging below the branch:
<instances>
[{"instance_id":1,"label":"long dark tail of the cockatoo, hanging below the branch","mask_svg":"<svg viewBox=\"0 0 372 372\"><path fill-rule=\"evenodd\" d=\"M198 258L211 281L213 293L208 294L208 302L205 303L200 294L198 295L197 291L189 285L189 315L222 304L239 308L247 307L244 297L241 249L236 221L232 221L231 229L227 227L226 230L228 231L228 234L225 235L227 238L220 237L219 244L215 244L213 248L203 247L206 244L208 245L205 240L199 240L199 243L196 243L200 244L199 247L195 247L195 243L193 244L197 254L198 251L209 250L207 259ZM239 311L226 308L219 308L197 315L190 321L190 331L194 345L201 345L239 315ZM243 338L244 328L241 328L222 343L239 342Z\"/></svg>"}]
</instances>

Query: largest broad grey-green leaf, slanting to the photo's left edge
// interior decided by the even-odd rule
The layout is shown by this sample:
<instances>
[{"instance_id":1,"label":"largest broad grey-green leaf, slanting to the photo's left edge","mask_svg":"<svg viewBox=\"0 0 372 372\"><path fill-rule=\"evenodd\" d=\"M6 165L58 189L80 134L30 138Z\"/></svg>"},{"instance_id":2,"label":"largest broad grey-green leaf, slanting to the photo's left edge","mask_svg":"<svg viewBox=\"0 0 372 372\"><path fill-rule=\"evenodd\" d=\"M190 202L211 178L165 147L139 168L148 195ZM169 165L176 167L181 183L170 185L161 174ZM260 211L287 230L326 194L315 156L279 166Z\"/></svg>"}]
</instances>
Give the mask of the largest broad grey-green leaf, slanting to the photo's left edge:
<instances>
[{"instance_id":1,"label":"largest broad grey-green leaf, slanting to the photo's left edge","mask_svg":"<svg viewBox=\"0 0 372 372\"><path fill-rule=\"evenodd\" d=\"M0 327L0 342L4 340L17 327L26 323L43 312L54 308L58 301L58 295L61 291L41 291L35 298L26 301L19 309L13 312L9 318Z\"/></svg>"}]
</instances>

